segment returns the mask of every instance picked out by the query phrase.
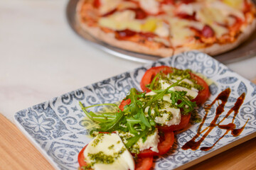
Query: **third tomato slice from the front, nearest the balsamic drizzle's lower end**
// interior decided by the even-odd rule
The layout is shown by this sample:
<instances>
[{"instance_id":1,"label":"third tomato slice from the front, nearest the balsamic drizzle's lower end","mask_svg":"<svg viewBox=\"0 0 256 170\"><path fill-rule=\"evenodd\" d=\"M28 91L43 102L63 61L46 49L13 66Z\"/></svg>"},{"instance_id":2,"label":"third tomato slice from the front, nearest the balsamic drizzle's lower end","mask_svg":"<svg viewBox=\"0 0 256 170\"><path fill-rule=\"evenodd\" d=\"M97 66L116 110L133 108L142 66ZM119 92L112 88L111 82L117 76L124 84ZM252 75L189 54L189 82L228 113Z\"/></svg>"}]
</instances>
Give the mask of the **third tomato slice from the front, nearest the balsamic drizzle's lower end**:
<instances>
[{"instance_id":1,"label":"third tomato slice from the front, nearest the balsamic drizzle's lower end","mask_svg":"<svg viewBox=\"0 0 256 170\"><path fill-rule=\"evenodd\" d=\"M188 126L190 118L191 118L191 113L189 113L188 115L181 115L181 123L179 123L178 125L170 125L170 126L159 125L157 128L159 128L159 130L162 130L164 132L182 130Z\"/></svg>"}]
</instances>

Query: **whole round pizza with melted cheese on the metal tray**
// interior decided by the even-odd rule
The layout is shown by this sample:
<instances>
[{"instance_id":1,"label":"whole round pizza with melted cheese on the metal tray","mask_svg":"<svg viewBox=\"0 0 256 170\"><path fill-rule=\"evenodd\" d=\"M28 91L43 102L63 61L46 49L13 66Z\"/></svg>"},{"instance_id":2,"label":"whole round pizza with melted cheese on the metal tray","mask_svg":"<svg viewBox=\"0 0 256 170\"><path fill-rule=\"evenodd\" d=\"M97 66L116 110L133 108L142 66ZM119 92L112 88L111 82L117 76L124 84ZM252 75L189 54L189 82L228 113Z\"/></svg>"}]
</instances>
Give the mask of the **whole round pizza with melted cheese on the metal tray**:
<instances>
[{"instance_id":1,"label":"whole round pizza with melted cheese on the metal tray","mask_svg":"<svg viewBox=\"0 0 256 170\"><path fill-rule=\"evenodd\" d=\"M80 0L83 30L108 44L169 57L188 50L218 55L250 37L250 0Z\"/></svg>"}]
</instances>

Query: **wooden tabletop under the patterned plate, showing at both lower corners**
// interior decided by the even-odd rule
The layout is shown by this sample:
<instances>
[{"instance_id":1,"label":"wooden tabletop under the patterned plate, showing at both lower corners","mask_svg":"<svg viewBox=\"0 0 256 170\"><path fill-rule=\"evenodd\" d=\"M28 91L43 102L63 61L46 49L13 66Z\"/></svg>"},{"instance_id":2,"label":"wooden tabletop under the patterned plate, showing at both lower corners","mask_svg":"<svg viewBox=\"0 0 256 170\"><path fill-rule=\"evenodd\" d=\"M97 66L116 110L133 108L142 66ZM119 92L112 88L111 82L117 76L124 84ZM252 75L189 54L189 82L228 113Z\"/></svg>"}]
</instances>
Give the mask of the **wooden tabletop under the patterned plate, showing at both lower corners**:
<instances>
[{"instance_id":1,"label":"wooden tabletop under the patterned plate, showing at both lower corners","mask_svg":"<svg viewBox=\"0 0 256 170\"><path fill-rule=\"evenodd\" d=\"M256 79L253 80L256 84ZM189 169L256 169L256 138L196 164ZM26 137L0 114L0 169L53 170Z\"/></svg>"}]
</instances>

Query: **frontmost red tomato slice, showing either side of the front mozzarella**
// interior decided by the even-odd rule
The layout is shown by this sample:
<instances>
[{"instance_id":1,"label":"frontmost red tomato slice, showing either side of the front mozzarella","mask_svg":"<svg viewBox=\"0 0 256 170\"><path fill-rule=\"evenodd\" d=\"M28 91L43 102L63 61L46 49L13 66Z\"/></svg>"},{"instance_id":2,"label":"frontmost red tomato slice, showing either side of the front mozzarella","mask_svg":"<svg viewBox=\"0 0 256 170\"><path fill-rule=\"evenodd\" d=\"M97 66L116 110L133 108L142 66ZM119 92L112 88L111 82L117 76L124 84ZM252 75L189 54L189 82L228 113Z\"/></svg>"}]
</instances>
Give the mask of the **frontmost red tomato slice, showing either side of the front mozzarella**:
<instances>
[{"instance_id":1,"label":"frontmost red tomato slice, showing either side of the front mozzarella","mask_svg":"<svg viewBox=\"0 0 256 170\"><path fill-rule=\"evenodd\" d=\"M78 154L78 164L80 167L87 166L87 163L85 162L85 156L83 154L86 147L87 145L83 147ZM135 170L149 170L151 169L152 164L153 157L140 157L139 159L137 159L137 162L135 164Z\"/></svg>"}]
</instances>

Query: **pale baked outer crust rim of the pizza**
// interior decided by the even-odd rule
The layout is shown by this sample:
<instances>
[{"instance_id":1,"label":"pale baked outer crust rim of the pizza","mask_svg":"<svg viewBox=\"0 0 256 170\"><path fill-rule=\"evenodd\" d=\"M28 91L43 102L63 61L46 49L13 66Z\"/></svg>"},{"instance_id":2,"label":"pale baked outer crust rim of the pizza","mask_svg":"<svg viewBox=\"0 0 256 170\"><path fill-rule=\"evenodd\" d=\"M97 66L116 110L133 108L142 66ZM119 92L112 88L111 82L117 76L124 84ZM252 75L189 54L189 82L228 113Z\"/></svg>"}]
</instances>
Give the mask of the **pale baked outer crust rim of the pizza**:
<instances>
[{"instance_id":1,"label":"pale baked outer crust rim of the pizza","mask_svg":"<svg viewBox=\"0 0 256 170\"><path fill-rule=\"evenodd\" d=\"M101 40L103 42L106 42L114 47L119 47L124 50L129 50L132 52L139 52L146 55L156 55L159 57L171 57L172 55L176 55L181 52L185 52L188 50L198 50L201 52L205 52L208 55L218 55L223 52L227 52L228 50L232 50L235 47L238 47L242 42L247 40L247 38L250 37L250 35L254 32L256 28L256 18L252 21L252 23L248 23L245 27L245 30L240 33L238 38L235 40L235 42L227 43L227 44L218 44L214 43L213 45L210 45L210 47L204 47L199 49L193 49L190 47L179 47L179 48L166 48L161 47L159 49L151 49L149 47L146 47L144 45L139 45L137 42L132 42L128 40L117 40L115 38L114 33L105 33L103 30L101 30L98 27L90 27L87 26L86 23L83 23L80 18L80 9L82 8L82 4L88 0L80 0L78 2L77 6L77 21L80 23L80 26L83 30L87 31L87 33L90 33L93 37L97 38L97 40Z\"/></svg>"}]
</instances>

